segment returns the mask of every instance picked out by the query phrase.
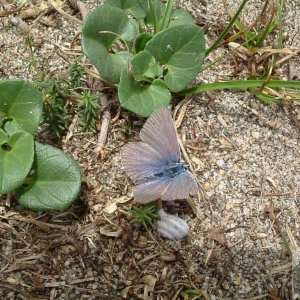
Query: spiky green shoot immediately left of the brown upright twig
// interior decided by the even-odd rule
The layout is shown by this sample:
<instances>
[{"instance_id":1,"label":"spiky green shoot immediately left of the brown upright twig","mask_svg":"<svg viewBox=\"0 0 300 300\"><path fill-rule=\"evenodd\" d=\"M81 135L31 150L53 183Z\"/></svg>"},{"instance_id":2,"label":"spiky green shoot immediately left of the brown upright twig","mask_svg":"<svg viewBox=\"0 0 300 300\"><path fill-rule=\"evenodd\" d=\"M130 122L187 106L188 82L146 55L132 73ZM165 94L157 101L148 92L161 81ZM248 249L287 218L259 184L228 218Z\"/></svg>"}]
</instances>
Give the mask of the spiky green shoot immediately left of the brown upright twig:
<instances>
[{"instance_id":1,"label":"spiky green shoot immediately left of the brown upright twig","mask_svg":"<svg viewBox=\"0 0 300 300\"><path fill-rule=\"evenodd\" d=\"M90 91L83 91L82 98L77 105L77 114L83 131L96 132L96 121L100 111L98 99L100 95L92 95Z\"/></svg>"}]
</instances>

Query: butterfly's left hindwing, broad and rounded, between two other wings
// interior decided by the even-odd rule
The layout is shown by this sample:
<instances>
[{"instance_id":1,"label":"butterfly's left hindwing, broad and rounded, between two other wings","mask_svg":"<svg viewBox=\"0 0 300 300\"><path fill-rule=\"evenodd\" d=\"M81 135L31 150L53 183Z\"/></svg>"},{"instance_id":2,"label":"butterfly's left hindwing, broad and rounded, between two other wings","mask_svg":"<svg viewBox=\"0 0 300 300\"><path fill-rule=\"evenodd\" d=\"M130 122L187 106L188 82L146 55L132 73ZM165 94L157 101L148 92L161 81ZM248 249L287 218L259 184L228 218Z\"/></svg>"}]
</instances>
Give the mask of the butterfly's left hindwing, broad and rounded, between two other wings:
<instances>
[{"instance_id":1,"label":"butterfly's left hindwing, broad and rounded, between two other wings","mask_svg":"<svg viewBox=\"0 0 300 300\"><path fill-rule=\"evenodd\" d=\"M121 157L126 173L136 182L159 173L164 165L161 155L144 142L126 145Z\"/></svg>"}]
</instances>

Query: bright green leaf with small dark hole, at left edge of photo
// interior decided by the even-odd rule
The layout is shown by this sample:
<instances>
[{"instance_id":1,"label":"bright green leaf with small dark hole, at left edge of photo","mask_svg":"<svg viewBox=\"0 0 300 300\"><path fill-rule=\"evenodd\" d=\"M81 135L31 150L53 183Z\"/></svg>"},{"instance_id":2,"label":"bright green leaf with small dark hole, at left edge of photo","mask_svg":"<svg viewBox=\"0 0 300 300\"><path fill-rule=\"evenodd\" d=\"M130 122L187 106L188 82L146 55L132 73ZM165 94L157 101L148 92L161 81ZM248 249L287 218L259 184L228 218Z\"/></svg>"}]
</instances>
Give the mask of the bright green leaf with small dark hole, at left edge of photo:
<instances>
[{"instance_id":1,"label":"bright green leaf with small dark hole, at left edge of photo","mask_svg":"<svg viewBox=\"0 0 300 300\"><path fill-rule=\"evenodd\" d=\"M1 130L0 148L0 194L19 187L30 171L33 155L33 136L25 131L5 136Z\"/></svg>"}]
</instances>

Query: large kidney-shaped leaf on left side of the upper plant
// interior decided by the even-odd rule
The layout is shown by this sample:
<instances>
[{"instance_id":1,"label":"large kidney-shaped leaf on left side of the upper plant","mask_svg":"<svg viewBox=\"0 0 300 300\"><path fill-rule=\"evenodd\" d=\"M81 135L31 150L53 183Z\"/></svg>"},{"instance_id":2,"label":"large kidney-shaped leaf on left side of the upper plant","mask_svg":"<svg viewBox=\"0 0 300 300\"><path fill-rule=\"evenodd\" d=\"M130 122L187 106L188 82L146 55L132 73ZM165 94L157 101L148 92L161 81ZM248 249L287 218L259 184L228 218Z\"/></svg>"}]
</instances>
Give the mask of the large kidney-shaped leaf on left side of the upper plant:
<instances>
[{"instance_id":1,"label":"large kidney-shaped leaf on left side of the upper plant","mask_svg":"<svg viewBox=\"0 0 300 300\"><path fill-rule=\"evenodd\" d=\"M111 46L118 39L133 41L137 33L134 20L117 7L100 5L87 16L82 30L82 48L105 81L118 83L129 59L126 51L109 52Z\"/></svg>"}]
</instances>

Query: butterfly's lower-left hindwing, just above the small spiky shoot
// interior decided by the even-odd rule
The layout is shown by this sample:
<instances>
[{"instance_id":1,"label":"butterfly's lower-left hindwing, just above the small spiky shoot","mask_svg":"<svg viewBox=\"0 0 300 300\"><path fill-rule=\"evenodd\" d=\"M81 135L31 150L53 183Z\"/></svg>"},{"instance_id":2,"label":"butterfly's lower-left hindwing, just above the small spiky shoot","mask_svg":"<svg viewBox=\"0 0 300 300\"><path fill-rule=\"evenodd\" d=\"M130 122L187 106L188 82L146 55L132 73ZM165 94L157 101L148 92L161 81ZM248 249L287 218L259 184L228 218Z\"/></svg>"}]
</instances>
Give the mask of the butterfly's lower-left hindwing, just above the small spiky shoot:
<instances>
[{"instance_id":1,"label":"butterfly's lower-left hindwing, just above the small spiky shoot","mask_svg":"<svg viewBox=\"0 0 300 300\"><path fill-rule=\"evenodd\" d=\"M134 199L140 203L149 203L159 199L164 191L168 188L172 178L161 177L137 185L133 188Z\"/></svg>"}]
</instances>

